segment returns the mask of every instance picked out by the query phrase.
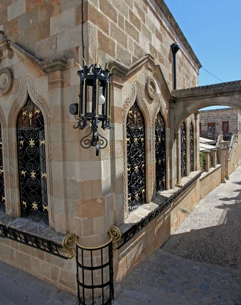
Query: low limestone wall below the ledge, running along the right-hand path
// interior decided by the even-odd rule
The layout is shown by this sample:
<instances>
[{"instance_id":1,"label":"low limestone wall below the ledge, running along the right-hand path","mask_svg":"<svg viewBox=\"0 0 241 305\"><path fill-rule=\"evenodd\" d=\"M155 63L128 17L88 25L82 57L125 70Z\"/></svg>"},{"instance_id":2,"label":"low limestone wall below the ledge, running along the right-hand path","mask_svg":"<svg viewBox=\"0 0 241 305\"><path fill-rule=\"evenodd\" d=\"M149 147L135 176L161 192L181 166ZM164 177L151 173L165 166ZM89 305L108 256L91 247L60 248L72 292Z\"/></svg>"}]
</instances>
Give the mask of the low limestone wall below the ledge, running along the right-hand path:
<instances>
[{"instance_id":1,"label":"low limestone wall below the ledge, running along the right-hand path","mask_svg":"<svg viewBox=\"0 0 241 305\"><path fill-rule=\"evenodd\" d=\"M188 210L221 183L221 166L212 168L202 176L182 196L166 208L160 216L151 221L122 248L114 252L115 279L121 282L150 253L160 248L173 233Z\"/></svg>"}]
</instances>

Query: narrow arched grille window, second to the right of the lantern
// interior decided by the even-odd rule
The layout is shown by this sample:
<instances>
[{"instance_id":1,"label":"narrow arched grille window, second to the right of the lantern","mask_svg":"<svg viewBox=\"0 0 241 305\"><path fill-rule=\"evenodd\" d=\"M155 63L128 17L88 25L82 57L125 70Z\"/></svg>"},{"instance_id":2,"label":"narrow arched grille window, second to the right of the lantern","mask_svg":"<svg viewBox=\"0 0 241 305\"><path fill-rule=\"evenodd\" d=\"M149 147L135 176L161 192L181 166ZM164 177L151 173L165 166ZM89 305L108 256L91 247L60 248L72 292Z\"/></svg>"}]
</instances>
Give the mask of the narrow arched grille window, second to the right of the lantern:
<instances>
[{"instance_id":1,"label":"narrow arched grille window, second to the right of the lantern","mask_svg":"<svg viewBox=\"0 0 241 305\"><path fill-rule=\"evenodd\" d=\"M165 122L159 112L155 121L156 193L165 190Z\"/></svg>"}]
</instances>

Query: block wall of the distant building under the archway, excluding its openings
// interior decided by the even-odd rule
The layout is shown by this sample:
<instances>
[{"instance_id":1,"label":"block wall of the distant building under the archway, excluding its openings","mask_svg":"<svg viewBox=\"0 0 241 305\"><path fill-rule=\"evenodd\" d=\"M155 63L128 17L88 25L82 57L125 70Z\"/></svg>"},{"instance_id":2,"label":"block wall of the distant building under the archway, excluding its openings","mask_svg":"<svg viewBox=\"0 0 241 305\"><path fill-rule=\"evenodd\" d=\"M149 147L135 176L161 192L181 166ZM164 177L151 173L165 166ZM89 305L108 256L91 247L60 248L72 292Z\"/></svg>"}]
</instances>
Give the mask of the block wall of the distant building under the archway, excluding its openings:
<instances>
[{"instance_id":1,"label":"block wall of the distant building under the archway, excluding its openings","mask_svg":"<svg viewBox=\"0 0 241 305\"><path fill-rule=\"evenodd\" d=\"M239 113L240 110L234 108L201 110L199 114L201 131L208 131L208 123L216 123L216 131L222 131L222 121L229 121L230 133L235 130L238 130L238 115L240 115Z\"/></svg>"}]
</instances>

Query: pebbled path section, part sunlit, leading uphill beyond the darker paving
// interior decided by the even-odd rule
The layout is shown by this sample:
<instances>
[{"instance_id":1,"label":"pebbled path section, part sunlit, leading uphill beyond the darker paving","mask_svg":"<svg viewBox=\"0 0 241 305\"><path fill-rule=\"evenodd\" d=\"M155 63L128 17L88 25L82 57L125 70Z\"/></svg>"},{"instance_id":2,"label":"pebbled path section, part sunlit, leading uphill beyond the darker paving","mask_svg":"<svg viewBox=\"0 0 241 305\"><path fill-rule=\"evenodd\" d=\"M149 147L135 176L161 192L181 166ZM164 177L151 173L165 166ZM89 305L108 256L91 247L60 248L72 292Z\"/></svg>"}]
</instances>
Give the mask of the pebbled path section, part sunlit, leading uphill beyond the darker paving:
<instances>
[{"instance_id":1,"label":"pebbled path section, part sunlit, leading uphill beyond the darker paving","mask_svg":"<svg viewBox=\"0 0 241 305\"><path fill-rule=\"evenodd\" d=\"M241 269L241 166L206 195L162 247L183 258Z\"/></svg>"}]
</instances>

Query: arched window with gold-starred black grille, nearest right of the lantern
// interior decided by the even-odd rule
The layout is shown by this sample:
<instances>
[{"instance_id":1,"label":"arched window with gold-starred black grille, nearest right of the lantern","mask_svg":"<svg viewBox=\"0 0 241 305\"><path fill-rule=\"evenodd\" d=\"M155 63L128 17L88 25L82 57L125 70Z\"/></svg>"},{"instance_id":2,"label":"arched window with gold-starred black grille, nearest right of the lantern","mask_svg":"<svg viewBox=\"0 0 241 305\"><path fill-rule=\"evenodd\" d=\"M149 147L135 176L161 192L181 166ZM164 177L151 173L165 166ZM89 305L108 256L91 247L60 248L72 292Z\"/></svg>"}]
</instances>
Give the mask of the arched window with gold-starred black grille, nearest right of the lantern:
<instances>
[{"instance_id":1,"label":"arched window with gold-starred black grille, nearest right of the lantern","mask_svg":"<svg viewBox=\"0 0 241 305\"><path fill-rule=\"evenodd\" d=\"M126 120L128 209L146 202L145 122L136 102Z\"/></svg>"}]
</instances>

